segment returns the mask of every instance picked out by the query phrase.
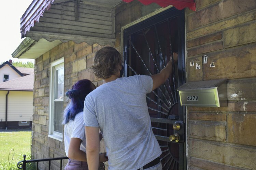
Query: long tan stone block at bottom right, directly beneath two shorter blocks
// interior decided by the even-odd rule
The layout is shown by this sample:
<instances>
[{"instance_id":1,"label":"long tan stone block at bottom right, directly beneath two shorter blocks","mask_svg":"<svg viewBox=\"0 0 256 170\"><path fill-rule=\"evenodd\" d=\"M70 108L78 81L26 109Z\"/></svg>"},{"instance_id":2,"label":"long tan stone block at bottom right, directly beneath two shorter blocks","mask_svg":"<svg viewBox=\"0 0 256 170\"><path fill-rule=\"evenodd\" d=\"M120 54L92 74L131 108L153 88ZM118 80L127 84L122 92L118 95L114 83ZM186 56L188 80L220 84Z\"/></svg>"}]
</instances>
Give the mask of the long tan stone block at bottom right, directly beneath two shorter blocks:
<instances>
[{"instance_id":1,"label":"long tan stone block at bottom right, directly beneath two shorter blocks","mask_svg":"<svg viewBox=\"0 0 256 170\"><path fill-rule=\"evenodd\" d=\"M230 166L256 169L256 148L230 143L188 140L188 154Z\"/></svg>"}]
</instances>

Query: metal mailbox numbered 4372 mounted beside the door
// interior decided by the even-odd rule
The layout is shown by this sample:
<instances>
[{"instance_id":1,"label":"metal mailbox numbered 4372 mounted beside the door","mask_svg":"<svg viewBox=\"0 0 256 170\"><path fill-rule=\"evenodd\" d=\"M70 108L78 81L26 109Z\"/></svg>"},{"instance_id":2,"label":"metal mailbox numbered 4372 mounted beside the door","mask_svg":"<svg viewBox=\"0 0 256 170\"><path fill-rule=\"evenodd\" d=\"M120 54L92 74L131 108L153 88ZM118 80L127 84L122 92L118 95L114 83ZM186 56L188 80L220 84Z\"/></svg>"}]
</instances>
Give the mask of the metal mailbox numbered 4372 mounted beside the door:
<instances>
[{"instance_id":1,"label":"metal mailbox numbered 4372 mounted beside the door","mask_svg":"<svg viewBox=\"0 0 256 170\"><path fill-rule=\"evenodd\" d=\"M180 86L181 106L225 107L227 106L227 80L188 82Z\"/></svg>"}]
</instances>

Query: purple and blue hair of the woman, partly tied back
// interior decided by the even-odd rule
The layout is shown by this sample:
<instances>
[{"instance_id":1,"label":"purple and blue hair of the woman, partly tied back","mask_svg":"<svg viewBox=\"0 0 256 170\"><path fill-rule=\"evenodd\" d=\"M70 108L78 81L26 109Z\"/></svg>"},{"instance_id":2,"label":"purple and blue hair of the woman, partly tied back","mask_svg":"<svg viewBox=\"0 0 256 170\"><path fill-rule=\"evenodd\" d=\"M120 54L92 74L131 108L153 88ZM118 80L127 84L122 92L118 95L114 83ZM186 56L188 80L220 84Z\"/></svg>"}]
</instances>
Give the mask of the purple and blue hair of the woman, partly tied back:
<instances>
[{"instance_id":1,"label":"purple and blue hair of the woman, partly tied back","mask_svg":"<svg viewBox=\"0 0 256 170\"><path fill-rule=\"evenodd\" d=\"M93 89L91 81L84 79L76 82L72 88L66 92L66 96L71 99L71 101L64 110L63 124L74 120L76 114L83 111L85 97L93 91Z\"/></svg>"}]
</instances>

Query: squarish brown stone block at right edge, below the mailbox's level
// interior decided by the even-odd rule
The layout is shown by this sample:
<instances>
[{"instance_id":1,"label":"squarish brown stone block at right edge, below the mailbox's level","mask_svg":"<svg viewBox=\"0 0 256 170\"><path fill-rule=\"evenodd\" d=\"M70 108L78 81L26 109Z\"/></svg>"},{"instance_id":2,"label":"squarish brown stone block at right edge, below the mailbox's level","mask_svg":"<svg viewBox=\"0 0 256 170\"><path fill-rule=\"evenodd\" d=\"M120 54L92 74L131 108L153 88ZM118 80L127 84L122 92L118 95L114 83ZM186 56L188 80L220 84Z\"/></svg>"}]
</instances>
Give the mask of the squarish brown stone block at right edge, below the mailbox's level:
<instances>
[{"instance_id":1,"label":"squarish brown stone block at right edge, below the mailbox's level","mask_svg":"<svg viewBox=\"0 0 256 170\"><path fill-rule=\"evenodd\" d=\"M228 114L228 138L231 143L256 146L256 114Z\"/></svg>"}]
</instances>

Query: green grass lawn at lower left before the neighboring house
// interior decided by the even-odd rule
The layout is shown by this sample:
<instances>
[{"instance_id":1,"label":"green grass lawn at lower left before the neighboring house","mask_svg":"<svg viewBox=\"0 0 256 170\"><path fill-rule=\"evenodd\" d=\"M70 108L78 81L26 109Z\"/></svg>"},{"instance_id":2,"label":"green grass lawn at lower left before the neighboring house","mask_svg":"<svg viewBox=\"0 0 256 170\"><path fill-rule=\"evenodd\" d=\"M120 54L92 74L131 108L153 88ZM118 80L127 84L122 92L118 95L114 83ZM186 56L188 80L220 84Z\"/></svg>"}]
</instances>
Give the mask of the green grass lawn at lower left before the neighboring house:
<instances>
[{"instance_id":1,"label":"green grass lawn at lower left before the neighboring house","mask_svg":"<svg viewBox=\"0 0 256 170\"><path fill-rule=\"evenodd\" d=\"M30 159L31 146L31 131L17 131L17 132L0 132L0 170L18 169L17 163L23 160L23 155L27 155L26 159ZM10 164L8 156L10 154ZM12 157L14 159L12 159Z\"/></svg>"}]
</instances>

